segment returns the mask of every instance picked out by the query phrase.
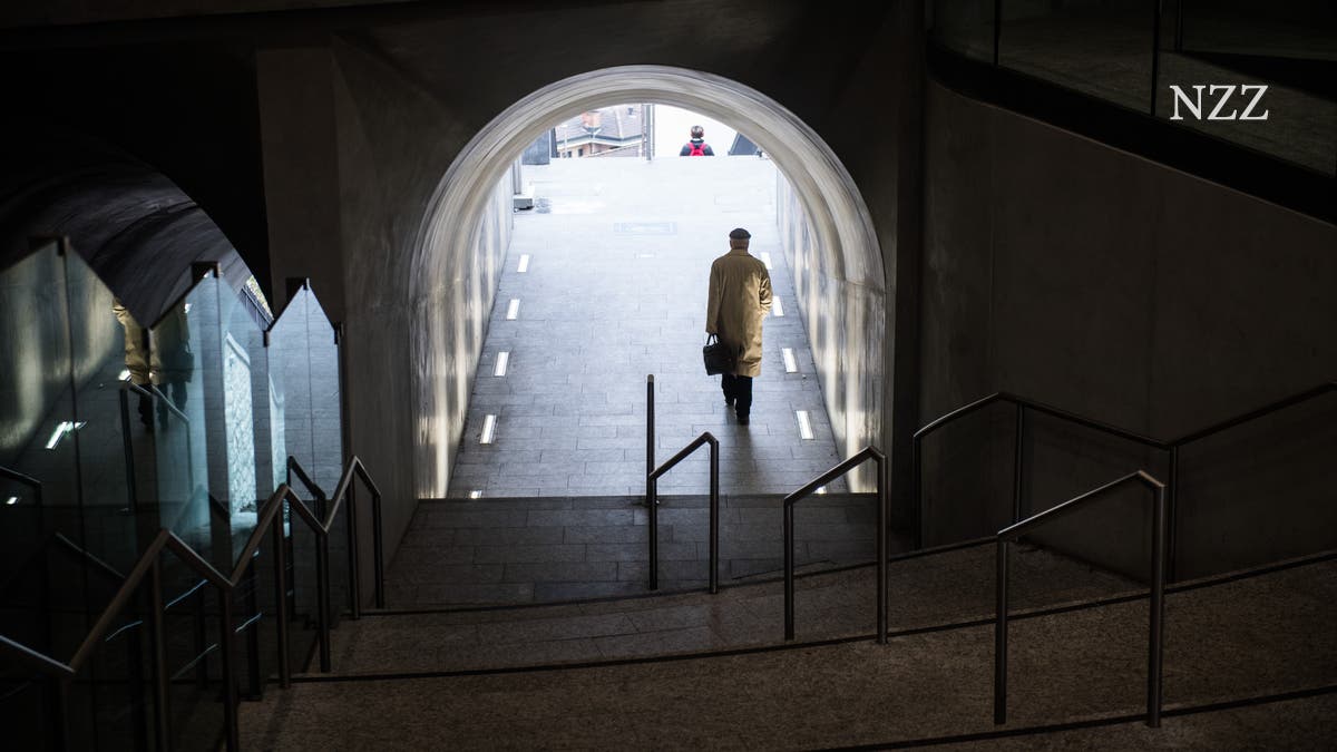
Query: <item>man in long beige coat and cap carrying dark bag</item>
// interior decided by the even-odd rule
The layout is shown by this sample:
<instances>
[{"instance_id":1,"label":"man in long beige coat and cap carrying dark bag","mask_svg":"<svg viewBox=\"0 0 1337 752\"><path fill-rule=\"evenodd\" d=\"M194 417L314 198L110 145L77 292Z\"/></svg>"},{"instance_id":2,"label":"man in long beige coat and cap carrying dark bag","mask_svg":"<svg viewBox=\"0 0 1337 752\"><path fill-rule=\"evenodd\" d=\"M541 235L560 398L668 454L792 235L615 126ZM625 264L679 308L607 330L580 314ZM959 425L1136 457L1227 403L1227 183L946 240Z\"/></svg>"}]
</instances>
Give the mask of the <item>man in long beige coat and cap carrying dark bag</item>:
<instances>
[{"instance_id":1,"label":"man in long beige coat and cap carrying dark bag","mask_svg":"<svg viewBox=\"0 0 1337 752\"><path fill-rule=\"evenodd\" d=\"M747 253L751 233L729 233L729 253L710 265L710 300L706 333L718 335L734 353L734 369L722 375L725 404L738 423L751 412L751 380L761 376L761 320L770 310L770 274L761 260Z\"/></svg>"}]
</instances>

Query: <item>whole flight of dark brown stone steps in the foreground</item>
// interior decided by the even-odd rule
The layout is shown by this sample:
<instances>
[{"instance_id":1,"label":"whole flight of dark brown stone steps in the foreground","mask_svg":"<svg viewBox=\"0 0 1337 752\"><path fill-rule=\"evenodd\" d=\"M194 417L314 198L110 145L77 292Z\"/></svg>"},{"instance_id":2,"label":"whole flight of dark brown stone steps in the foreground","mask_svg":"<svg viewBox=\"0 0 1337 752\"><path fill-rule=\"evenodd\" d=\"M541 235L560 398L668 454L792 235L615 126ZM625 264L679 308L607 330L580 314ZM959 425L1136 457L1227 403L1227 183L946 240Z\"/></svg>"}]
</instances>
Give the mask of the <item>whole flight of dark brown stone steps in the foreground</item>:
<instances>
[{"instance_id":1,"label":"whole flight of dark brown stone steps in the foreground","mask_svg":"<svg viewBox=\"0 0 1337 752\"><path fill-rule=\"evenodd\" d=\"M1040 549L1012 558L1009 723L992 723L993 550L779 583L344 622L334 674L243 704L247 748L1328 748L1337 553L1181 583L1166 598L1165 721L1146 711L1147 599ZM397 562L398 563L398 562Z\"/></svg>"}]
</instances>

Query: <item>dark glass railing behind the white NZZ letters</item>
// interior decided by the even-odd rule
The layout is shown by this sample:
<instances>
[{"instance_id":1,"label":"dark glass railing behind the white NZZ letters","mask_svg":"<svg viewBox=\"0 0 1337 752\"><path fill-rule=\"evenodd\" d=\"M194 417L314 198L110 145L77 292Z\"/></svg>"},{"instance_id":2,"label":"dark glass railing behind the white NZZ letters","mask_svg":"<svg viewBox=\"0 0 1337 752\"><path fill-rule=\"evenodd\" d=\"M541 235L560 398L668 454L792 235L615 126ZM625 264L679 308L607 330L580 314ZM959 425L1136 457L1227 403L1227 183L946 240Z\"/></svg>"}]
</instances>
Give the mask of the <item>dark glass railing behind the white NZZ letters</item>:
<instances>
[{"instance_id":1,"label":"dark glass railing behind the white NZZ letters","mask_svg":"<svg viewBox=\"0 0 1337 752\"><path fill-rule=\"evenodd\" d=\"M936 0L940 45L1337 174L1337 5Z\"/></svg>"}]
</instances>

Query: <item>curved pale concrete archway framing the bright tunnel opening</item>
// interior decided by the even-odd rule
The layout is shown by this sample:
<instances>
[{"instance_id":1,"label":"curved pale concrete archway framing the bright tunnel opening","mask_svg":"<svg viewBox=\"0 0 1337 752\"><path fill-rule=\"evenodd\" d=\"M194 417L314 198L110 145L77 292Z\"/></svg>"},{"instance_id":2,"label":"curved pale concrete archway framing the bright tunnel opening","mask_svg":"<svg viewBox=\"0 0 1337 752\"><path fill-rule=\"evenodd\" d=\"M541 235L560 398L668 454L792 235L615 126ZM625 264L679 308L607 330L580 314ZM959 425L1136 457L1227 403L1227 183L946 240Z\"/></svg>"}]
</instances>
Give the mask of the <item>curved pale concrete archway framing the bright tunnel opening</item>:
<instances>
[{"instance_id":1,"label":"curved pale concrete archway framing the bright tunnel opening","mask_svg":"<svg viewBox=\"0 0 1337 752\"><path fill-rule=\"evenodd\" d=\"M422 325L410 341L421 496L445 494L463 430L500 274L495 260L477 258L480 240L496 233L495 222L483 219L497 185L527 145L572 112L626 102L693 110L765 145L801 209L786 250L837 443L850 454L878 442L886 277L853 178L812 127L754 88L686 68L623 66L559 80L508 107L460 151L432 197L410 264L410 300ZM469 273L477 264L485 268ZM457 310L461 294L465 316Z\"/></svg>"}]
</instances>

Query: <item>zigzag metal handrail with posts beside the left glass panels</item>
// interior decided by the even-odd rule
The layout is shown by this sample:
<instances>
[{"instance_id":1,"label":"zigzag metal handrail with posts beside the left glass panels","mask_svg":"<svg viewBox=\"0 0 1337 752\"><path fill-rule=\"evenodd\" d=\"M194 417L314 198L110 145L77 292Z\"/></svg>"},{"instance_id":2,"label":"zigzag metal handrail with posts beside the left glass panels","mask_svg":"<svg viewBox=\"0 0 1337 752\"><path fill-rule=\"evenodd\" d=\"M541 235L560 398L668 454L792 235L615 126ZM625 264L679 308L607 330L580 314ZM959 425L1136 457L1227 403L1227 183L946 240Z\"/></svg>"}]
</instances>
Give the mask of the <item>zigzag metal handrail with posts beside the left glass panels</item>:
<instances>
[{"instance_id":1,"label":"zigzag metal handrail with posts beside the left glass panels","mask_svg":"<svg viewBox=\"0 0 1337 752\"><path fill-rule=\"evenodd\" d=\"M290 459L289 466L291 467L294 463L295 460ZM306 474L299 470L301 466L297 467L301 476L305 476ZM353 500L353 482L356 479L360 479L372 494L370 512L373 525L374 599L377 607L384 607L385 589L381 542L381 492L372 480L370 474L366 471L361 459L353 456L344 468L324 519L306 506L306 502L303 502L293 491L291 486L287 483L279 486L258 511L255 529L251 531L251 535L238 555L237 563L230 574L219 571L171 530L160 529L139 555L130 573L124 575L124 582L120 585L108 605L98 616L92 629L83 638L68 661L60 661L27 645L9 640L8 637L0 636L0 660L4 660L7 664L23 670L39 674L51 682L52 692L48 694L48 701L52 704L49 711L49 717L52 719L49 728L49 733L52 736L51 741L53 743L52 745L57 749L68 748L70 735L67 724L70 723L70 717L66 705L70 684L78 676L79 670L88 664L91 656L99 649L99 646L104 644L104 638L115 624L116 617L132 603L139 587L147 581L150 597L150 644L152 650L151 664L154 670L152 707L156 711L154 713L152 732L155 736L155 747L158 749L171 748L171 729L168 728L170 713L167 713L167 693L171 677L168 676L166 660L166 640L163 628L163 613L166 605L163 601L162 573L162 554L163 551L170 551L190 570L203 578L206 583L211 585L218 594L218 628L221 636L219 653L222 658L221 678L223 686L223 739L229 751L239 748L241 741L237 720L238 688L233 666L235 653L233 642L237 637L233 624L233 594L238 590L245 578L251 577L255 554L266 538L271 539L274 547L274 609L277 620L275 650L278 653L278 680L279 685L283 688L287 688L291 684L291 666L289 665L287 657L287 551L283 537L285 515L281 514L285 508L289 510L290 516L302 519L302 522L312 530L312 533L316 534L317 538L317 618L320 629L321 670L329 672L329 534L336 516L344 507L345 499L349 499L348 559L352 601L350 607L353 618L361 618L360 566L357 557L357 510Z\"/></svg>"}]
</instances>

